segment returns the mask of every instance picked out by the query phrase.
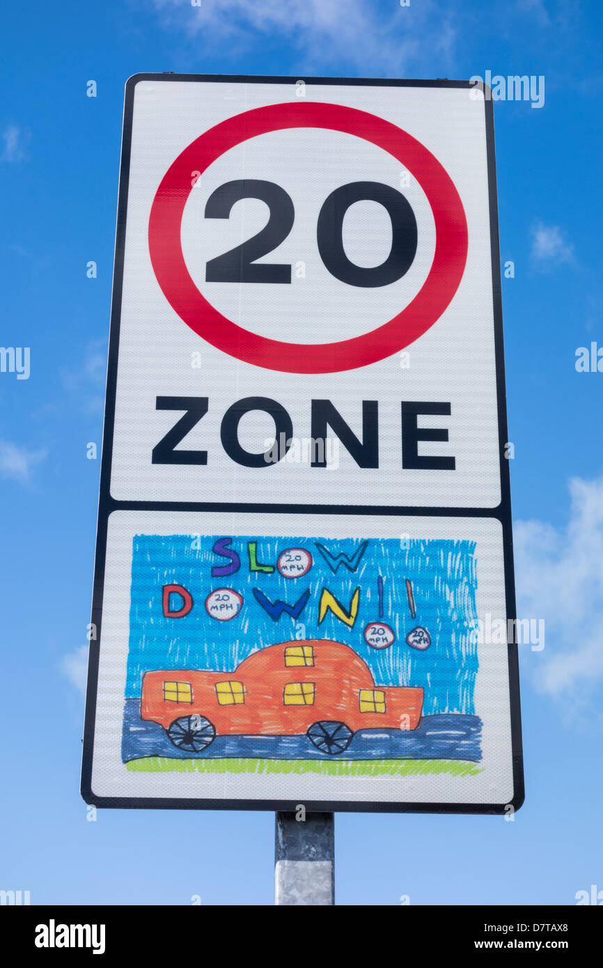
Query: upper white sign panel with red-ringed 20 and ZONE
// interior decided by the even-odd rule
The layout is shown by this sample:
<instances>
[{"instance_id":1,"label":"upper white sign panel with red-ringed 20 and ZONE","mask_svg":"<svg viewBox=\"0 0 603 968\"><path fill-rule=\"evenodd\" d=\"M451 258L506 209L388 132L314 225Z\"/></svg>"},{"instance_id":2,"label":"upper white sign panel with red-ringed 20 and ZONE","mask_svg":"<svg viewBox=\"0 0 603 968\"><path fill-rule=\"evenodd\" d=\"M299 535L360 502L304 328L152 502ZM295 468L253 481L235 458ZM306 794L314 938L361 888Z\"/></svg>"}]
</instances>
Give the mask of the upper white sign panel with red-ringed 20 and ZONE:
<instances>
[{"instance_id":1,"label":"upper white sign panel with red-ringed 20 and ZONE","mask_svg":"<svg viewBox=\"0 0 603 968\"><path fill-rule=\"evenodd\" d=\"M136 83L111 497L246 503L259 483L268 503L494 508L485 102L467 87L308 82L299 95ZM186 413L158 397L206 403L153 463ZM252 408L258 397L271 403ZM294 441L278 461L275 432Z\"/></svg>"}]
</instances>

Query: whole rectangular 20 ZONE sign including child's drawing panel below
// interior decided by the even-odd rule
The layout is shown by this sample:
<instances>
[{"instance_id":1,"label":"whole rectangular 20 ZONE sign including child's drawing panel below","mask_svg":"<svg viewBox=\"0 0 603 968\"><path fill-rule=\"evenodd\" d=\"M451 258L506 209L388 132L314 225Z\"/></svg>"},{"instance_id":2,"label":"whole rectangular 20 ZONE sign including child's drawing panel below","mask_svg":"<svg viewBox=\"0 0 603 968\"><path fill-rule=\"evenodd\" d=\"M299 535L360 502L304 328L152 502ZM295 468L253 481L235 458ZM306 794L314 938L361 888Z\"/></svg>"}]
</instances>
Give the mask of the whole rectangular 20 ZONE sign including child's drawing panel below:
<instances>
[{"instance_id":1,"label":"whole rectangular 20 ZONE sign including child's drawing panel below","mask_svg":"<svg viewBox=\"0 0 603 968\"><path fill-rule=\"evenodd\" d=\"M492 110L128 81L87 802L523 801Z\"/></svg>"}]
</instances>

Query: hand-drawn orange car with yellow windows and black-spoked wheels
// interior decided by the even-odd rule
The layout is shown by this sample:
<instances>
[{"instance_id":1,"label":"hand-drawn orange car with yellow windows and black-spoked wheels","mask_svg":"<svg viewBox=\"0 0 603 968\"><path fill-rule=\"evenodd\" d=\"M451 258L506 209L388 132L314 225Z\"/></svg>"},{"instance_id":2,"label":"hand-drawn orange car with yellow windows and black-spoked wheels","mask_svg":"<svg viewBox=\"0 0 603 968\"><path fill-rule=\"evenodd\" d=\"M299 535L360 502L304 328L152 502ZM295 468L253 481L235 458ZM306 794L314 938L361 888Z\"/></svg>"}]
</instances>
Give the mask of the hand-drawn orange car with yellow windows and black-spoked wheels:
<instances>
[{"instance_id":1,"label":"hand-drawn orange car with yellow windows and black-spoked wheels","mask_svg":"<svg viewBox=\"0 0 603 968\"><path fill-rule=\"evenodd\" d=\"M422 707L422 688L378 686L354 650L308 639L258 650L231 673L147 672L140 715L184 751L198 753L218 735L305 734L336 755L359 729L416 729Z\"/></svg>"}]
</instances>

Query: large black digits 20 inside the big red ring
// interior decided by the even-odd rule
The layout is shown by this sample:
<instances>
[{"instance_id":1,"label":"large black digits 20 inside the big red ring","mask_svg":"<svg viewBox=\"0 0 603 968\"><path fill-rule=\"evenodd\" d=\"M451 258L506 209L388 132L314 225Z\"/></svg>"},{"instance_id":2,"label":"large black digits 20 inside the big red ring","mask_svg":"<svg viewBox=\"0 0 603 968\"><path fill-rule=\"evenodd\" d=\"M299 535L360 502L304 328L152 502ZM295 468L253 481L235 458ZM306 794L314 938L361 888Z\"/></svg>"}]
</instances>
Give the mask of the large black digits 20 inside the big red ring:
<instances>
[{"instance_id":1,"label":"large black digits 20 inside the big red ring","mask_svg":"<svg viewBox=\"0 0 603 968\"><path fill-rule=\"evenodd\" d=\"M291 266L286 263L256 263L285 241L293 227L295 210L291 197L274 182L239 179L226 182L212 192L205 205L206 219L227 219L232 206L242 198L259 198L270 211L267 224L251 239L212 258L205 269L208 283L290 283ZM351 262L344 249L344 218L356 201L376 201L387 211L392 225L389 256L376 266ZM348 286L377 287L395 283L407 273L417 249L417 226L407 198L380 182L350 182L335 189L318 213L317 244L320 257L336 279Z\"/></svg>"}]
</instances>

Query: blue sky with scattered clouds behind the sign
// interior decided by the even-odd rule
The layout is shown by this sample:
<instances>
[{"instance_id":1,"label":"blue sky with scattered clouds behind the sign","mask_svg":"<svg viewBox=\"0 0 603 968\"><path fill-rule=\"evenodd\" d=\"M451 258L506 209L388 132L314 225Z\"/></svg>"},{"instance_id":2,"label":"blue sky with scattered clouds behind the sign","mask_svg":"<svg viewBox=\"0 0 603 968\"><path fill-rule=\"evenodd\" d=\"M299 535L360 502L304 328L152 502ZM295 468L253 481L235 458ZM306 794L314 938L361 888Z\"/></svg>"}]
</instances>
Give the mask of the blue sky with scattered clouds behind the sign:
<instances>
[{"instance_id":1,"label":"blue sky with scattered clouds behind the sign","mask_svg":"<svg viewBox=\"0 0 603 968\"><path fill-rule=\"evenodd\" d=\"M270 904L271 813L99 811L78 793L123 85L141 71L546 78L495 106L527 802L340 814L338 902L575 903L603 889L603 9L596 0L11 5L0 101L3 889L32 903ZM95 79L98 97L86 97ZM98 278L86 278L86 263ZM167 833L178 831L177 861ZM149 845L151 845L149 849Z\"/></svg>"}]
</instances>

